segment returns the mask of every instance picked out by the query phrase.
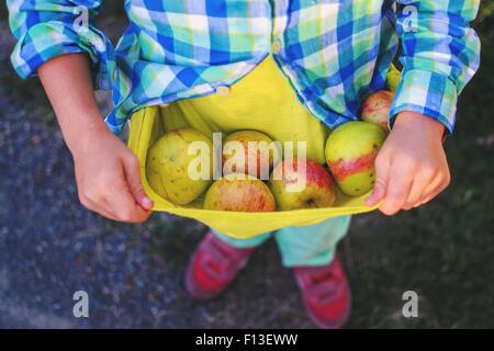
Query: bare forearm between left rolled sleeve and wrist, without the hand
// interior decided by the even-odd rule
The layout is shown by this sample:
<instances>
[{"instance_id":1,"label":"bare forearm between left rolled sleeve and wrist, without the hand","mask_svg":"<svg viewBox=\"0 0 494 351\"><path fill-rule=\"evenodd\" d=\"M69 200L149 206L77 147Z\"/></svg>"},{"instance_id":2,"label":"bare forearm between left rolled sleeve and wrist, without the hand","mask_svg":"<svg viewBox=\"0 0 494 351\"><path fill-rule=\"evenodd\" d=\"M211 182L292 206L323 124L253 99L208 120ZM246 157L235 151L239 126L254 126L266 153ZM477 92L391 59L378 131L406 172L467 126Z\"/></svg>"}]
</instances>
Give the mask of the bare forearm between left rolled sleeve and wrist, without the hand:
<instances>
[{"instance_id":1,"label":"bare forearm between left rolled sleeve and wrist, without the hand","mask_svg":"<svg viewBox=\"0 0 494 351\"><path fill-rule=\"evenodd\" d=\"M72 155L96 135L110 133L98 110L86 54L56 57L37 72Z\"/></svg>"}]
</instances>

